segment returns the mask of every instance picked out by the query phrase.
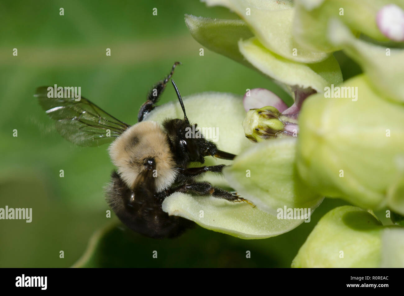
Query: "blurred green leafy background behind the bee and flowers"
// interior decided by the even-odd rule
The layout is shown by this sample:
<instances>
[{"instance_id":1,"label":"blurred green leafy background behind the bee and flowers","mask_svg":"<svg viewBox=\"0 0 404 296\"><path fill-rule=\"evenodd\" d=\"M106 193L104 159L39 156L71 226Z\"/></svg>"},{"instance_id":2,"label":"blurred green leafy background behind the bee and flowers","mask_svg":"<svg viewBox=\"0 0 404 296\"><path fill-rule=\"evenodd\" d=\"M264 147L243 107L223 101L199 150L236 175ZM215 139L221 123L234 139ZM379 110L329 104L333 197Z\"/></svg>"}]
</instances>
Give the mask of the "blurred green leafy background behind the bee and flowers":
<instances>
[{"instance_id":1,"label":"blurred green leafy background behind the bee and flowers","mask_svg":"<svg viewBox=\"0 0 404 296\"><path fill-rule=\"evenodd\" d=\"M155 7L157 16L152 15ZM258 72L207 49L200 56L202 46L189 34L185 13L237 18L198 0L0 3L0 207L33 211L32 223L0 220L0 267L72 266L97 230L76 266L289 267L321 216L345 204L326 199L311 223L250 241L199 226L179 239L153 240L128 231L113 213L106 218L103 186L113 169L107 145L80 148L63 140L34 99L36 87L80 86L83 97L135 124L151 86L181 61L175 80L183 96L203 91L242 95L247 88L263 87L291 103ZM360 72L342 53L336 57L344 78ZM170 100L176 96L167 87L160 104ZM158 259L152 258L153 250Z\"/></svg>"}]
</instances>

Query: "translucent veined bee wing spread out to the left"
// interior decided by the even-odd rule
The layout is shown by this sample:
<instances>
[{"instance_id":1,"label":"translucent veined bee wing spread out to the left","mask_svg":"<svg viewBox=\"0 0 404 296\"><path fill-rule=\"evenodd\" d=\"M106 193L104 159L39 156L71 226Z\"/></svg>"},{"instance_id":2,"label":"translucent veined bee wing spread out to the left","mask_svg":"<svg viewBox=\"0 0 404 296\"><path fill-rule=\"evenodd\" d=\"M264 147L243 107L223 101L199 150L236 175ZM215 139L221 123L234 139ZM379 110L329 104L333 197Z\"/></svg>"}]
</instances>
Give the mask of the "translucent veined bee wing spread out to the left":
<instances>
[{"instance_id":1,"label":"translucent veined bee wing spread out to the left","mask_svg":"<svg viewBox=\"0 0 404 296\"><path fill-rule=\"evenodd\" d=\"M56 121L61 136L80 146L110 143L130 127L84 97L80 101L74 97L48 98L48 87L38 87L34 96L46 114Z\"/></svg>"}]
</instances>

